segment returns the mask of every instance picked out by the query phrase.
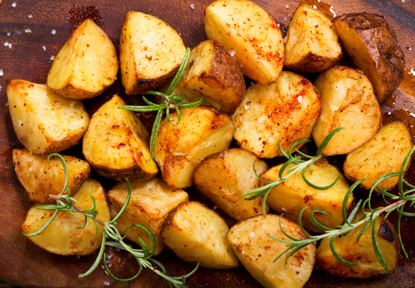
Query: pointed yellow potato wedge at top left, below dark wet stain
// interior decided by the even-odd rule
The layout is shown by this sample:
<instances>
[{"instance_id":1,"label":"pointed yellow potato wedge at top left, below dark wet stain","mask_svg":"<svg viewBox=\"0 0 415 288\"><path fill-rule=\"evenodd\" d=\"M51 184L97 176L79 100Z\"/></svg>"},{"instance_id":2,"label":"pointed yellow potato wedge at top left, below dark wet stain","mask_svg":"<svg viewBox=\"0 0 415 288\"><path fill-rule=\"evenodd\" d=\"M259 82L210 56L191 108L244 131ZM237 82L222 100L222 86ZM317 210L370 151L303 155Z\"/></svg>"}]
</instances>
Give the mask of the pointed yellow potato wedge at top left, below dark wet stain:
<instances>
[{"instance_id":1,"label":"pointed yellow potato wedge at top left, below dark wet stain","mask_svg":"<svg viewBox=\"0 0 415 288\"><path fill-rule=\"evenodd\" d=\"M87 19L56 54L46 84L54 93L73 99L102 94L117 79L117 51L107 33Z\"/></svg>"}]
</instances>

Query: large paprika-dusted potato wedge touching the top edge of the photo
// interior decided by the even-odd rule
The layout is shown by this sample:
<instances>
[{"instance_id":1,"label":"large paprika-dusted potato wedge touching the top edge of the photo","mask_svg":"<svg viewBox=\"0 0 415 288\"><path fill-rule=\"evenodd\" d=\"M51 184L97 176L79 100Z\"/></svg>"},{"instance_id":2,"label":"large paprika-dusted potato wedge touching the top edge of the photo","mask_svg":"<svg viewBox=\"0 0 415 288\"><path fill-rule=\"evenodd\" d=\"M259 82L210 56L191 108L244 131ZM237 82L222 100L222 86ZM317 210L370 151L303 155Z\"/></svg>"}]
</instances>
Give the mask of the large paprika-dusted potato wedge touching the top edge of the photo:
<instances>
[{"instance_id":1,"label":"large paprika-dusted potato wedge touching the top edge of the photo","mask_svg":"<svg viewBox=\"0 0 415 288\"><path fill-rule=\"evenodd\" d=\"M277 80L284 62L281 29L254 2L217 0L205 8L207 39L225 46L242 73L269 85Z\"/></svg>"}]
</instances>

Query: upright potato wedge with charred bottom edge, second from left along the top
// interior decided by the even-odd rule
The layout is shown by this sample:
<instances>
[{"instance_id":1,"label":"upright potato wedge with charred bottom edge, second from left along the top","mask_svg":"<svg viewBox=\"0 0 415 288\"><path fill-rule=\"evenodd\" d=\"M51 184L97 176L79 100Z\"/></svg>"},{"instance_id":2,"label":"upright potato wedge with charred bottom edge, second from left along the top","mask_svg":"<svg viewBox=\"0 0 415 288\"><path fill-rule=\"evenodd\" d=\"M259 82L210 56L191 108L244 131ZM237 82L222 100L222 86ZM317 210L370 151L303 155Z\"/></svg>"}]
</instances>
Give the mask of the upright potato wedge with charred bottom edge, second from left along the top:
<instances>
[{"instance_id":1,"label":"upright potato wedge with charred bottom edge, second from left along the top","mask_svg":"<svg viewBox=\"0 0 415 288\"><path fill-rule=\"evenodd\" d=\"M127 11L120 35L121 83L127 94L144 94L173 76L186 47L166 22Z\"/></svg>"}]
</instances>

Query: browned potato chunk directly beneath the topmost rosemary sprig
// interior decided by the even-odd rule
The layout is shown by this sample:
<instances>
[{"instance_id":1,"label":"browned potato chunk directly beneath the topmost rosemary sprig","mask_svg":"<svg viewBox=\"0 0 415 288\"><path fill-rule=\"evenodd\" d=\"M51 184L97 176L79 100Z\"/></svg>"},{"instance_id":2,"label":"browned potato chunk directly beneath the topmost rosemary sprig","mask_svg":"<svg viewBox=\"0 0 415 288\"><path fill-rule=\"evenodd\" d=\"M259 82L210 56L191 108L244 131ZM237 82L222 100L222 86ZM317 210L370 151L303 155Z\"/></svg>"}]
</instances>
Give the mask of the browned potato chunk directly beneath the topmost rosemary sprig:
<instances>
[{"instance_id":1,"label":"browned potato chunk directly beneath the topmost rosemary sprig","mask_svg":"<svg viewBox=\"0 0 415 288\"><path fill-rule=\"evenodd\" d=\"M234 133L231 118L214 108L181 109L161 121L154 149L161 176L171 188L193 185L193 172L206 156L229 148Z\"/></svg>"}]
</instances>

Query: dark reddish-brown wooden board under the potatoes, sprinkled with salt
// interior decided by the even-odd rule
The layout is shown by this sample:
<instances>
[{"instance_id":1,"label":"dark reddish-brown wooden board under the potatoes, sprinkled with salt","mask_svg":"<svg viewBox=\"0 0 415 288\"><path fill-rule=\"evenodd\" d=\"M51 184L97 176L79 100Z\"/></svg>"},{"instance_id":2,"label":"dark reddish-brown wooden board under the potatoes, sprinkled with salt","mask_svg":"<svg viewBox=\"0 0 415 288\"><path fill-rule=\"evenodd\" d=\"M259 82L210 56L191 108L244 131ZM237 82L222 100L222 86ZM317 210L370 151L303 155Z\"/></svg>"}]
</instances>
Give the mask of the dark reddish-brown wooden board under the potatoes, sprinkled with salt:
<instances>
[{"instance_id":1,"label":"dark reddish-brown wooden board under the potatoes, sprinkled with salt","mask_svg":"<svg viewBox=\"0 0 415 288\"><path fill-rule=\"evenodd\" d=\"M16 2L16 7L12 7L13 2ZM0 277L2 279L22 287L107 287L104 281L108 281L110 287L120 288L168 287L165 281L148 270L144 270L141 276L129 283L113 280L104 273L100 266L90 276L78 279L76 277L87 271L93 263L96 253L83 257L49 254L21 234L20 225L32 203L18 182L12 167L12 149L22 146L13 131L6 106L6 80L24 79L45 83L51 65L50 57L56 55L72 30L85 17L92 17L118 47L118 37L125 12L127 10L141 11L158 16L170 24L181 34L184 43L193 47L205 40L203 9L208 2L210 0L0 0L0 69L4 73L0 76L0 219L2 221ZM281 23L282 28L288 26L298 6L298 1L295 0L256 0L255 2ZM410 67L415 67L415 22L413 20L415 19L415 2L413 0L405 2L401 0L333 0L330 3L337 15L347 12L372 12L384 15L398 34L398 41L405 52L408 71ZM74 7L74 4L93 7ZM190 4L195 4L194 9L190 7ZM32 18L28 15L32 15ZM30 29L31 32L26 33L25 29ZM52 29L56 30L55 35L51 34ZM8 32L10 36L7 36ZM11 48L3 46L6 41L12 44ZM46 51L42 49L42 46L45 46ZM412 50L405 49L407 46ZM409 120L415 120L409 115L411 111L415 113L413 87L415 82L408 71L405 72L404 83L395 92L395 107L382 105L383 111L386 112L386 120L391 117L403 119L403 116ZM310 75L310 80L313 80L312 77L314 76ZM122 92L120 84L115 83L105 94L85 101L88 112L93 112L115 93L122 95L129 103L136 102L134 96L126 97ZM407 109L408 112L400 110L400 112L388 115L388 112L402 108ZM80 147L78 144L66 151L66 154L83 157ZM342 163L342 156L339 156L336 161ZM411 166L407 174L410 183L415 183L414 171L414 166ZM106 189L114 184L113 181L98 176L94 171L92 177L98 179ZM190 198L205 202L210 208L213 207L195 190L187 190ZM359 192L356 193L356 198L359 197L358 195ZM379 199L376 201L379 205L381 204ZM233 224L229 217L224 217L230 225ZM396 218L393 215L390 217L391 222L396 224ZM415 233L412 227L415 227L415 221L405 219L402 234L410 259L414 259L415 254ZM122 278L134 275L137 269L134 259L113 249L107 248L107 252L112 255L109 263L112 264L112 271L115 275ZM171 251L165 251L156 258L167 266L168 273L173 276L181 276L193 268L193 265L181 261ZM315 270L305 287L386 288L397 285L400 288L415 287L414 264L415 260L407 261L401 257L395 272L365 280L329 277ZM243 267L223 271L200 268L186 284L188 287L261 287Z\"/></svg>"}]
</instances>

